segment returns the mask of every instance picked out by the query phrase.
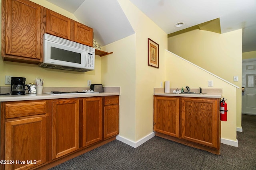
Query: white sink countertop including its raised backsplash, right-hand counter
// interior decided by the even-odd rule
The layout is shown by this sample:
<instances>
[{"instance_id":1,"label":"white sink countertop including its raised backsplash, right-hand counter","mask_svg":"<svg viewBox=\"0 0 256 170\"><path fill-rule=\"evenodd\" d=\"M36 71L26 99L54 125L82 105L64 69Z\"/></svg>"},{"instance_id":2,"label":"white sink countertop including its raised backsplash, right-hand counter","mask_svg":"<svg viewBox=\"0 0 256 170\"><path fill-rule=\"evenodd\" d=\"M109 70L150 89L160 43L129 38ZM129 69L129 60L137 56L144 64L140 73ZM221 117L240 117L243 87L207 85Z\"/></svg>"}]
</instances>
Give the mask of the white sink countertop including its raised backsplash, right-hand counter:
<instances>
[{"instance_id":1,"label":"white sink countertop including its raised backsplash, right-hand counter","mask_svg":"<svg viewBox=\"0 0 256 170\"><path fill-rule=\"evenodd\" d=\"M221 98L222 89L202 89L202 94L176 94L172 93L174 89L170 90L170 93L164 93L164 88L154 88L155 96L177 96L177 97L192 97L192 98ZM196 92L196 91L192 91ZM199 92L199 91L198 91ZM197 92L197 93L198 93Z\"/></svg>"}]
</instances>

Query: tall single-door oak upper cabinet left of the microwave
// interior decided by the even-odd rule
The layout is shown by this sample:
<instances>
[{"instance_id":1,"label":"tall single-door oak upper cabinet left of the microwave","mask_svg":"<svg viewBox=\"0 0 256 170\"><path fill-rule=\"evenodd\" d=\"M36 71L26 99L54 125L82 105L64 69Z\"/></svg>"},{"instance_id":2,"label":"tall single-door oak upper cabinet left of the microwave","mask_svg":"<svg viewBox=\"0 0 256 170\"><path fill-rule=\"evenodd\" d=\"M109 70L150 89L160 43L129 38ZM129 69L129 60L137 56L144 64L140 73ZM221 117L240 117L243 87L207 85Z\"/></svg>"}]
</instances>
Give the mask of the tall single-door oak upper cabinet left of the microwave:
<instances>
[{"instance_id":1,"label":"tall single-door oak upper cabinet left of the microwave","mask_svg":"<svg viewBox=\"0 0 256 170\"><path fill-rule=\"evenodd\" d=\"M42 7L29 0L2 0L4 61L38 64L41 50Z\"/></svg>"}]
</instances>

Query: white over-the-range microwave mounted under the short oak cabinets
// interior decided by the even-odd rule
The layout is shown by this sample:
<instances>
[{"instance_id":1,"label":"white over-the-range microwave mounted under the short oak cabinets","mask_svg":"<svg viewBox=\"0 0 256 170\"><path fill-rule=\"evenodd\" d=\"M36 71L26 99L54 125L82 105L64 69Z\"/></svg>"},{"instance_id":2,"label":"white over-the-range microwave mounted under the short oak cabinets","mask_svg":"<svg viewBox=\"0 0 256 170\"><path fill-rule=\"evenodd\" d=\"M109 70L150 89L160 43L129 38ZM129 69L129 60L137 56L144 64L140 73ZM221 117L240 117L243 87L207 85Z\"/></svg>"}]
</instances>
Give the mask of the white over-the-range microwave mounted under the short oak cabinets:
<instances>
[{"instance_id":1,"label":"white over-the-range microwave mounted under the short oak cabinets","mask_svg":"<svg viewBox=\"0 0 256 170\"><path fill-rule=\"evenodd\" d=\"M50 34L44 34L44 61L38 66L86 72L94 70L95 49Z\"/></svg>"}]
</instances>

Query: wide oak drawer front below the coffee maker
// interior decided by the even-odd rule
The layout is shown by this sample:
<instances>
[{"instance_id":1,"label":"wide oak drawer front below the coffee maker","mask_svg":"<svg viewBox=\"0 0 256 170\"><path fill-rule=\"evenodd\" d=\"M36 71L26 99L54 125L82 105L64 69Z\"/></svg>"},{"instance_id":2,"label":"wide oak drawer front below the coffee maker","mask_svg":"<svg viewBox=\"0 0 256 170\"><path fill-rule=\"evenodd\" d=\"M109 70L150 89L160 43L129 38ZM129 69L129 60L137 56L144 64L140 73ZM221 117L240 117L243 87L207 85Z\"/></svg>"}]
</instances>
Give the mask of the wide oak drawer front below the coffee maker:
<instances>
[{"instance_id":1,"label":"wide oak drawer front below the coffee maker","mask_svg":"<svg viewBox=\"0 0 256 170\"><path fill-rule=\"evenodd\" d=\"M46 101L40 102L13 102L5 105L5 117L22 117L46 113Z\"/></svg>"}]
</instances>

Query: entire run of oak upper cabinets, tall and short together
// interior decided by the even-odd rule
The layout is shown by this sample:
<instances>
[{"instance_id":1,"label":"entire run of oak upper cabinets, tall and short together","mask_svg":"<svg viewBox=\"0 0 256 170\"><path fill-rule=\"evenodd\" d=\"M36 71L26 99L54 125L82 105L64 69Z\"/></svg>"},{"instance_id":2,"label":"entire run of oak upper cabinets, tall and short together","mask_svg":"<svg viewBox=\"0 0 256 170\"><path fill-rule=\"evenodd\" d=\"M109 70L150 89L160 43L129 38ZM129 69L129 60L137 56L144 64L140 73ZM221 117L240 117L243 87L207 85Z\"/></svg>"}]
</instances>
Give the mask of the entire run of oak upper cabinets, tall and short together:
<instances>
[{"instance_id":1,"label":"entire run of oak upper cabinets, tall and short together","mask_svg":"<svg viewBox=\"0 0 256 170\"><path fill-rule=\"evenodd\" d=\"M93 29L30 0L2 0L2 57L4 61L39 64L43 35L92 47Z\"/></svg>"}]
</instances>

